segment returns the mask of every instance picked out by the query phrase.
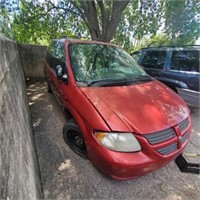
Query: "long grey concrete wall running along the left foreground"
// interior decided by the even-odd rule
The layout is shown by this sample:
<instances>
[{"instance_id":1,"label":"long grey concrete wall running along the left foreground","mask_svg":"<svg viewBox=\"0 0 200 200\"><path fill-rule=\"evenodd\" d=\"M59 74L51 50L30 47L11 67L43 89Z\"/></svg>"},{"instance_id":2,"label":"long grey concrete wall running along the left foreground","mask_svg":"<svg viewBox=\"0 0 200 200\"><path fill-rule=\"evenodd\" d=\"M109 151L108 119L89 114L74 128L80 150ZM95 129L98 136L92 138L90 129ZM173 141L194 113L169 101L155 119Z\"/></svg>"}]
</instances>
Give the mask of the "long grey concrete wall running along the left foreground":
<instances>
[{"instance_id":1,"label":"long grey concrete wall running along the left foreground","mask_svg":"<svg viewBox=\"0 0 200 200\"><path fill-rule=\"evenodd\" d=\"M1 35L0 199L41 199L32 125L17 45Z\"/></svg>"}]
</instances>

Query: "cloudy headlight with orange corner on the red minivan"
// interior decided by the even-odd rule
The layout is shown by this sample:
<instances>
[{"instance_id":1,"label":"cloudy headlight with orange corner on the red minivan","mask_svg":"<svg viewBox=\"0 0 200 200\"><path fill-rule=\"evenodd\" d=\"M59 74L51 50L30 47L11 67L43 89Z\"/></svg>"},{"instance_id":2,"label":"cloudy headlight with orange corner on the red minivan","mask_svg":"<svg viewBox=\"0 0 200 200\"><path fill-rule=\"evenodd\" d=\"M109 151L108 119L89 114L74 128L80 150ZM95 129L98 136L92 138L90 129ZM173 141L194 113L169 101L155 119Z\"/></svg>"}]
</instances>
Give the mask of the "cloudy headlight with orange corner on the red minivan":
<instances>
[{"instance_id":1,"label":"cloudy headlight with orange corner on the red minivan","mask_svg":"<svg viewBox=\"0 0 200 200\"><path fill-rule=\"evenodd\" d=\"M120 152L140 151L141 146L132 133L96 132L95 138L108 149Z\"/></svg>"}]
</instances>

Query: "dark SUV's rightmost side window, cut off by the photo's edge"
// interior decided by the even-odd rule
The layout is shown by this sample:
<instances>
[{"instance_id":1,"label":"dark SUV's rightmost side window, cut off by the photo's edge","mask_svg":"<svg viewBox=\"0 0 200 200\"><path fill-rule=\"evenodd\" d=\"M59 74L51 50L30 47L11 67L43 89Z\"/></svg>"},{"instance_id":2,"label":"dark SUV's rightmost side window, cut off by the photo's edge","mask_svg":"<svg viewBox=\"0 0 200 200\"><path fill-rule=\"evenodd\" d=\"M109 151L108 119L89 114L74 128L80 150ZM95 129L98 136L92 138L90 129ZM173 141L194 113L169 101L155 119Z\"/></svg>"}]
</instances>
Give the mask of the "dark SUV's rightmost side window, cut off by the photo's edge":
<instances>
[{"instance_id":1,"label":"dark SUV's rightmost side window, cut off by the photo's edge","mask_svg":"<svg viewBox=\"0 0 200 200\"><path fill-rule=\"evenodd\" d=\"M197 50L173 51L171 69L199 72L199 52Z\"/></svg>"}]
</instances>

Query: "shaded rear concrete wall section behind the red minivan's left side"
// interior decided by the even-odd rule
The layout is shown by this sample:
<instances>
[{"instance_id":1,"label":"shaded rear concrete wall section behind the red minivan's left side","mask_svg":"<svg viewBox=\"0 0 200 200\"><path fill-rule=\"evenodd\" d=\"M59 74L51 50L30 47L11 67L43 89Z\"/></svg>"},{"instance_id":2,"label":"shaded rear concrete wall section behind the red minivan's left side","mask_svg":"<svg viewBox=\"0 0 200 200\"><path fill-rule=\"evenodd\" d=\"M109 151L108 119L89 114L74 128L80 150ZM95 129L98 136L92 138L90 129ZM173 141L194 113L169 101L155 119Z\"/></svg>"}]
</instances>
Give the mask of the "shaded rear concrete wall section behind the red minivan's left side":
<instances>
[{"instance_id":1,"label":"shaded rear concrete wall section behind the red minivan's left side","mask_svg":"<svg viewBox=\"0 0 200 200\"><path fill-rule=\"evenodd\" d=\"M43 62L46 46L18 44L24 77L31 80L44 79Z\"/></svg>"}]
</instances>

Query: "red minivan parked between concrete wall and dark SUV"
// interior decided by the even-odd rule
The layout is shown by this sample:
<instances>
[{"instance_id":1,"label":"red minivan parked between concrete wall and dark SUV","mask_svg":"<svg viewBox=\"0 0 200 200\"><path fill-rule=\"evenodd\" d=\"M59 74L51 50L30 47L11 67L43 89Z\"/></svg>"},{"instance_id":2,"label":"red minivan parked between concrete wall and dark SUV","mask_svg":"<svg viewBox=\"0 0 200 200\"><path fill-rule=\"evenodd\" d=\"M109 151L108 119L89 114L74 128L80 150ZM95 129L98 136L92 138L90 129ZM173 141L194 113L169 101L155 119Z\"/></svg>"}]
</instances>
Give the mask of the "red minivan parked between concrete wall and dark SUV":
<instances>
[{"instance_id":1,"label":"red minivan parked between concrete wall and dark SUV","mask_svg":"<svg viewBox=\"0 0 200 200\"><path fill-rule=\"evenodd\" d=\"M65 142L114 179L165 166L190 139L185 102L115 45L53 40L44 72L66 113Z\"/></svg>"}]
</instances>

